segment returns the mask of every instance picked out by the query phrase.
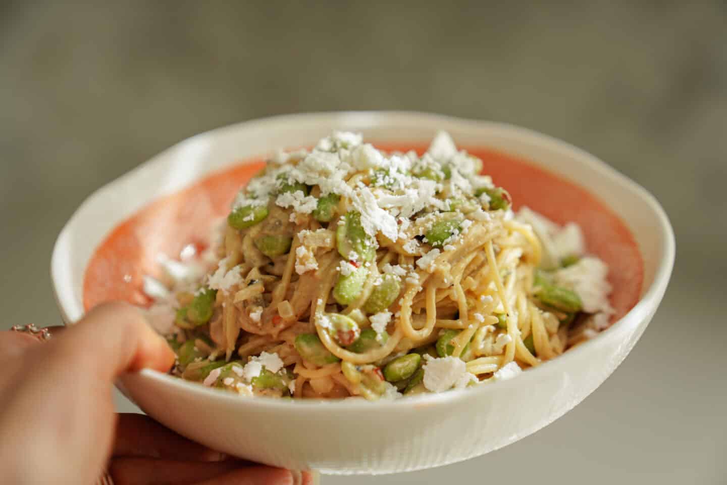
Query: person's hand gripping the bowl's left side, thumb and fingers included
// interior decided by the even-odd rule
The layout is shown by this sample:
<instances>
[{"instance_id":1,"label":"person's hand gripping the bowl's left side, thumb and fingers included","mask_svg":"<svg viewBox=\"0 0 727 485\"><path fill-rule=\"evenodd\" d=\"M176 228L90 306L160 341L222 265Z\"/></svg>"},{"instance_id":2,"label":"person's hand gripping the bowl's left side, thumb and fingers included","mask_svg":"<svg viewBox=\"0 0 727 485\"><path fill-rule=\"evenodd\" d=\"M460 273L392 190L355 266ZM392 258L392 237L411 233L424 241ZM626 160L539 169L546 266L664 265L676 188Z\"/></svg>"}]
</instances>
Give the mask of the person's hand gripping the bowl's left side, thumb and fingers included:
<instances>
[{"instance_id":1,"label":"person's hand gripping the bowl's left side, thumb and fingers included","mask_svg":"<svg viewBox=\"0 0 727 485\"><path fill-rule=\"evenodd\" d=\"M90 485L108 470L115 485L292 484L287 470L225 460L142 414L114 413L119 374L173 362L125 303L101 305L48 342L0 332L0 483Z\"/></svg>"}]
</instances>

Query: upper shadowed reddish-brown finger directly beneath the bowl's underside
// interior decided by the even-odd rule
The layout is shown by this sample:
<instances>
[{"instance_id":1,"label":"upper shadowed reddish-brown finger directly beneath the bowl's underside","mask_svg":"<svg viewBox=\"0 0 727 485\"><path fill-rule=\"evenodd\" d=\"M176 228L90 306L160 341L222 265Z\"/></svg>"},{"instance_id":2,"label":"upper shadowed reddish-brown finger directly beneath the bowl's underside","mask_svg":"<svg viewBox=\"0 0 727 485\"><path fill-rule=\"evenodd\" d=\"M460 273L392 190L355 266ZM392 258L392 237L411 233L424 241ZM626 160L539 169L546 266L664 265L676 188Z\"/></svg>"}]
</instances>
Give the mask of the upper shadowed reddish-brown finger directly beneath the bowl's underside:
<instances>
[{"instance_id":1,"label":"upper shadowed reddish-brown finger directly beneath the bowl's underside","mask_svg":"<svg viewBox=\"0 0 727 485\"><path fill-rule=\"evenodd\" d=\"M225 458L220 452L164 428L145 414L119 414L113 455L198 462L221 461Z\"/></svg>"}]
</instances>

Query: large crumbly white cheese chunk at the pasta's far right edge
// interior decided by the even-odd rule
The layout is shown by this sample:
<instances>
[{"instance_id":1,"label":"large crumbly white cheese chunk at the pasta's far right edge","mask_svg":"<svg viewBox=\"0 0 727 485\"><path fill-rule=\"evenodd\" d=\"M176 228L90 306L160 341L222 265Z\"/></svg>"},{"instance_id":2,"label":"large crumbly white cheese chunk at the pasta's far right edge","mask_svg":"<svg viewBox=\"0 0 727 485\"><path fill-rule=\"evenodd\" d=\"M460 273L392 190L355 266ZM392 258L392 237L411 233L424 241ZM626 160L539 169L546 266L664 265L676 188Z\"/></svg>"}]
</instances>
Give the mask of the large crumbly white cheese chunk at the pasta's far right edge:
<instances>
[{"instance_id":1,"label":"large crumbly white cheese chunk at the pasta's far right edge","mask_svg":"<svg viewBox=\"0 0 727 485\"><path fill-rule=\"evenodd\" d=\"M587 313L600 311L612 313L608 303L611 284L608 283L608 266L598 257L582 257L574 265L561 268L553 273L556 284L566 286L578 294Z\"/></svg>"}]
</instances>

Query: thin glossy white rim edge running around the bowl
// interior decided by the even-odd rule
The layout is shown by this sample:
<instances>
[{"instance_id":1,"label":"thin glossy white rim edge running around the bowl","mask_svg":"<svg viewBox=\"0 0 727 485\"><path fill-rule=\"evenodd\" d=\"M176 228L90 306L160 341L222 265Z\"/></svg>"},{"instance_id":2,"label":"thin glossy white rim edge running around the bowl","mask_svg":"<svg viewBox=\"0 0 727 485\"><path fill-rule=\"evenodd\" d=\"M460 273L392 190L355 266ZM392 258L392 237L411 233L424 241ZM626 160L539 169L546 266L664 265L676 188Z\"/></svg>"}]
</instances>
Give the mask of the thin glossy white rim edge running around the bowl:
<instances>
[{"instance_id":1,"label":"thin glossy white rim edge running around the bowl","mask_svg":"<svg viewBox=\"0 0 727 485\"><path fill-rule=\"evenodd\" d=\"M126 172L120 177L116 177L110 182L106 183L97 190L93 191L86 199L79 205L73 215L63 226L60 231L55 245L53 247L51 257L51 279L53 286L53 293L57 302L58 308L63 318L63 323L73 321L69 311L69 308L74 306L73 291L70 288L63 288L63 276L64 271L67 270L64 264L64 249L65 245L62 244L64 239L68 237L68 233L71 231L73 223L81 217L83 209L95 202L95 199L103 196L103 193L111 191L113 185L119 183L121 180L126 180L130 177L136 176L145 167L152 164L160 164L163 160L173 151L180 148L181 145L189 143L190 140L198 140L201 137L209 137L211 135L217 135L228 130L238 130L245 128L253 128L256 125L270 124L274 125L278 122L283 121L303 121L310 118L321 118L330 117L341 118L341 119L362 119L365 120L369 125L375 126L380 121L388 121L389 124L399 122L401 124L407 121L415 123L415 119L428 119L430 121L446 121L448 124L457 124L462 127L468 127L470 129L489 129L500 132L501 134L507 134L518 138L527 138L531 142L539 146L548 146L554 151L559 153L569 153L574 158L578 159L580 164L585 164L588 168L595 171L599 176L610 180L612 183L622 186L625 190L637 196L640 201L645 204L646 208L651 210L656 220L656 230L659 233L659 239L661 240L661 246L659 247L662 257L657 262L656 270L654 271L654 280L648 286L646 291L642 288L642 294L634 305L622 318L614 322L608 329L599 333L596 337L593 337L575 348L571 348L568 352L558 356L551 361L547 361L534 369L528 369L527 372L523 372L518 379L505 380L499 382L492 382L490 385L476 386L475 388L467 388L462 390L449 390L446 393L425 393L419 396L411 396L406 399L396 399L391 401L375 401L369 402L363 399L292 399L292 400L281 400L275 398L260 398L260 397L245 397L238 396L233 393L226 392L224 390L218 390L213 388L207 388L206 386L199 385L196 382L188 382L178 377L174 377L170 374L164 374L152 369L142 369L136 374L139 377L152 380L157 384L161 385L172 385L177 390L183 390L185 392L196 393L199 397L206 398L217 398L222 400L228 400L230 405L244 405L252 408L258 408L260 410L270 411L275 409L281 409L289 411L291 406L294 406L296 412L331 412L332 408L340 408L342 410L352 409L355 411L361 411L362 409L403 409L410 406L433 406L449 403L450 401L470 396L474 398L478 394L495 392L497 389L504 388L506 386L514 385L514 382L523 384L527 380L538 380L539 376L544 372L551 372L556 366L567 366L569 361L573 361L581 356L583 353L587 353L596 345L601 345L609 338L616 338L617 334L623 332L629 326L638 326L644 321L651 313L654 313L661 298L666 291L667 285L670 280L672 268L675 259L675 236L669 218L666 212L656 200L645 188L635 183L630 178L618 172L613 167L606 164L598 157L594 156L587 151L582 150L570 143L567 143L558 138L550 135L545 135L540 132L536 132L532 129L525 127L518 127L513 124L499 123L495 121L476 120L476 119L465 119L457 116L441 115L436 113L425 113L419 111L327 111L327 112L311 112L311 113L294 113L284 114L278 116L269 116L261 119L252 119L249 121L242 121L241 123L230 124L224 127L215 128L206 132L193 135L185 140L181 140L178 143L166 148L156 156L142 162L139 166ZM247 157L252 158L252 157ZM543 166L547 169L547 167ZM204 175L201 175L204 177ZM181 190L181 189L177 189ZM587 190L587 189L585 189ZM153 199L152 199L153 200ZM151 200L150 200L151 201ZM150 203L146 201L145 204ZM121 222L121 221L119 221ZM117 223L118 224L118 223ZM81 304L82 305L82 304ZM76 310L76 313L78 311ZM619 363L620 364L620 363ZM615 369L615 366L614 366ZM598 387L598 386L597 386ZM573 404L572 406L574 406Z\"/></svg>"}]
</instances>

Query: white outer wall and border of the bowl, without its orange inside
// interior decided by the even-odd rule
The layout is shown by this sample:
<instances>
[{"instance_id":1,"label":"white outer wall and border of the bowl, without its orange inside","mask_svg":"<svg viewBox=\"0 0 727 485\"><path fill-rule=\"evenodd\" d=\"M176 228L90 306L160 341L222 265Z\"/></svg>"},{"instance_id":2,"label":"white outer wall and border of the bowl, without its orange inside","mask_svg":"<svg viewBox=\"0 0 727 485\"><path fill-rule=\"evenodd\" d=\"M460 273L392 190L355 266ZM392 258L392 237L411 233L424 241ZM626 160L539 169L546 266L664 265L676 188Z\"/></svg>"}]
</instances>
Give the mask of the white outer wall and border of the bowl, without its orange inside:
<instances>
[{"instance_id":1,"label":"white outer wall and border of the bowl, without its orange inside","mask_svg":"<svg viewBox=\"0 0 727 485\"><path fill-rule=\"evenodd\" d=\"M241 398L142 371L120 387L182 435L223 452L323 473L395 473L476 457L539 430L588 396L629 353L654 316L670 278L675 243L667 216L643 188L578 148L527 129L423 113L314 113L249 121L174 145L101 188L57 239L51 271L66 322L84 313L84 270L96 246L150 201L240 159L310 145L333 129L365 139L428 142L439 129L458 144L484 145L577 181L605 201L643 256L640 300L593 340L513 380L391 402ZM537 207L535 207L537 209Z\"/></svg>"}]
</instances>

